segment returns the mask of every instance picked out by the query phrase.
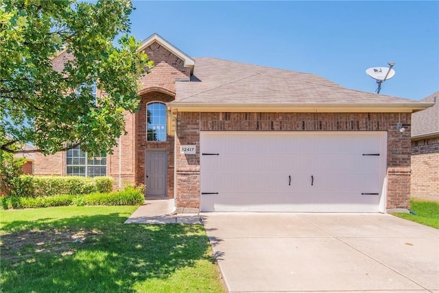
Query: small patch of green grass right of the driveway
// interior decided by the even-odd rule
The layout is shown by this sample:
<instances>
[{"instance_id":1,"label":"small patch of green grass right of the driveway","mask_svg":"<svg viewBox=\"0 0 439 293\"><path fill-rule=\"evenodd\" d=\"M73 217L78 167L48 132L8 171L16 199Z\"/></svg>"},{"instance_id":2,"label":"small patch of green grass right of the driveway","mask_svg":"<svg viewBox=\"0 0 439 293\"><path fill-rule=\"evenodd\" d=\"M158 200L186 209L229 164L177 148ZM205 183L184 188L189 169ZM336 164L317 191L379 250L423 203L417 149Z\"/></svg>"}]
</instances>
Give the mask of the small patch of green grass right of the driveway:
<instances>
[{"instance_id":1,"label":"small patch of green grass right of the driveway","mask_svg":"<svg viewBox=\"0 0 439 293\"><path fill-rule=\"evenodd\" d=\"M439 229L439 203L435 201L422 201L412 199L410 201L410 210L416 212L417 216L413 214L394 214L399 218L405 218L413 222L434 227Z\"/></svg>"}]
</instances>

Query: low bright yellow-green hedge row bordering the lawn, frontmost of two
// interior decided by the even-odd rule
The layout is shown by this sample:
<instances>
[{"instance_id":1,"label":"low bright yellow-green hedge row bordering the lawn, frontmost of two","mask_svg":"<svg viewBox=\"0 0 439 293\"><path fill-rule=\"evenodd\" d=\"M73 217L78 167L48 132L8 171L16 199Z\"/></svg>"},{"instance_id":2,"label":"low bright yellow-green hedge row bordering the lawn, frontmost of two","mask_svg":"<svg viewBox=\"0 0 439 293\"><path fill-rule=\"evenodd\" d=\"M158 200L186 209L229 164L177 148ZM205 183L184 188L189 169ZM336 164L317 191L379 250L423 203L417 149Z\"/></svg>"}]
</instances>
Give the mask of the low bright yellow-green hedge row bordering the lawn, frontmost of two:
<instances>
[{"instance_id":1,"label":"low bright yellow-green hedge row bordering the lawn, frontmost of two","mask_svg":"<svg viewBox=\"0 0 439 293\"><path fill-rule=\"evenodd\" d=\"M141 205L144 197L140 188L126 188L119 192L93 194L59 194L56 196L2 196L3 209L60 207L63 205Z\"/></svg>"}]
</instances>

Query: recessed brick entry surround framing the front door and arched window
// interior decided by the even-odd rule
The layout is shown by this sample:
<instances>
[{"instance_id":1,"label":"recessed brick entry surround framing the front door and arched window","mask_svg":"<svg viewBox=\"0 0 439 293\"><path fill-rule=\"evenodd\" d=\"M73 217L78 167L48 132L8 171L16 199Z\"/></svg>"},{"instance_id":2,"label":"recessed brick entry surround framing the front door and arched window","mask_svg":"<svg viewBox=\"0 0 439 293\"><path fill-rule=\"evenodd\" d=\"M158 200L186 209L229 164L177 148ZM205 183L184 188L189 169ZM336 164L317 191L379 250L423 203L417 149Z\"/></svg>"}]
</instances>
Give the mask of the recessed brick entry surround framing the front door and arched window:
<instances>
[{"instance_id":1,"label":"recessed brick entry surround framing the front door and arched window","mask_svg":"<svg viewBox=\"0 0 439 293\"><path fill-rule=\"evenodd\" d=\"M139 112L136 113L136 181L145 183L145 151L147 149L167 150L167 196L174 197L174 138L167 136L166 142L147 142L147 104L153 101L167 103L174 97L163 92L147 92L142 95ZM146 186L146 194L147 192Z\"/></svg>"}]
</instances>

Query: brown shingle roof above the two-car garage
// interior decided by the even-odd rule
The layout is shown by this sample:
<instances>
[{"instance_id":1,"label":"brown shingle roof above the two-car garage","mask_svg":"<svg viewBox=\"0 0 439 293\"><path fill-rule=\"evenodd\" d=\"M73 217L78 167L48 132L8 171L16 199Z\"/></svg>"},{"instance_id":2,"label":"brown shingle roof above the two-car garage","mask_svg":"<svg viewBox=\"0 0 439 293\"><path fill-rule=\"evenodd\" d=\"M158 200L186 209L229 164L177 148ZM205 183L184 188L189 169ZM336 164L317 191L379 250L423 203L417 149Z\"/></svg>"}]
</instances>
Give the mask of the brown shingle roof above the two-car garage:
<instances>
[{"instance_id":1,"label":"brown shingle roof above the two-car garage","mask_svg":"<svg viewBox=\"0 0 439 293\"><path fill-rule=\"evenodd\" d=\"M172 103L419 103L349 90L309 73L216 58L194 59L191 82L176 82L176 100Z\"/></svg>"}]
</instances>

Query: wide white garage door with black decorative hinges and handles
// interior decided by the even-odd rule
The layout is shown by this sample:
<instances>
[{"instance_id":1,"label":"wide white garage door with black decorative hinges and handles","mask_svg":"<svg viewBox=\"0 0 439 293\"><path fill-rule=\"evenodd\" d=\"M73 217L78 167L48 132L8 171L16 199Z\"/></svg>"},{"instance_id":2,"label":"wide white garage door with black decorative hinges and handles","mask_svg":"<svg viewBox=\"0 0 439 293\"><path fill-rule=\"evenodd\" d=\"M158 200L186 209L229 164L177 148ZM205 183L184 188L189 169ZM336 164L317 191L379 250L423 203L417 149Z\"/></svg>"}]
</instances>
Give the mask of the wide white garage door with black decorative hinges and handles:
<instances>
[{"instance_id":1,"label":"wide white garage door with black decorative hinges and handles","mask_svg":"<svg viewBox=\"0 0 439 293\"><path fill-rule=\"evenodd\" d=\"M202 131L202 212L383 212L385 131Z\"/></svg>"}]
</instances>

